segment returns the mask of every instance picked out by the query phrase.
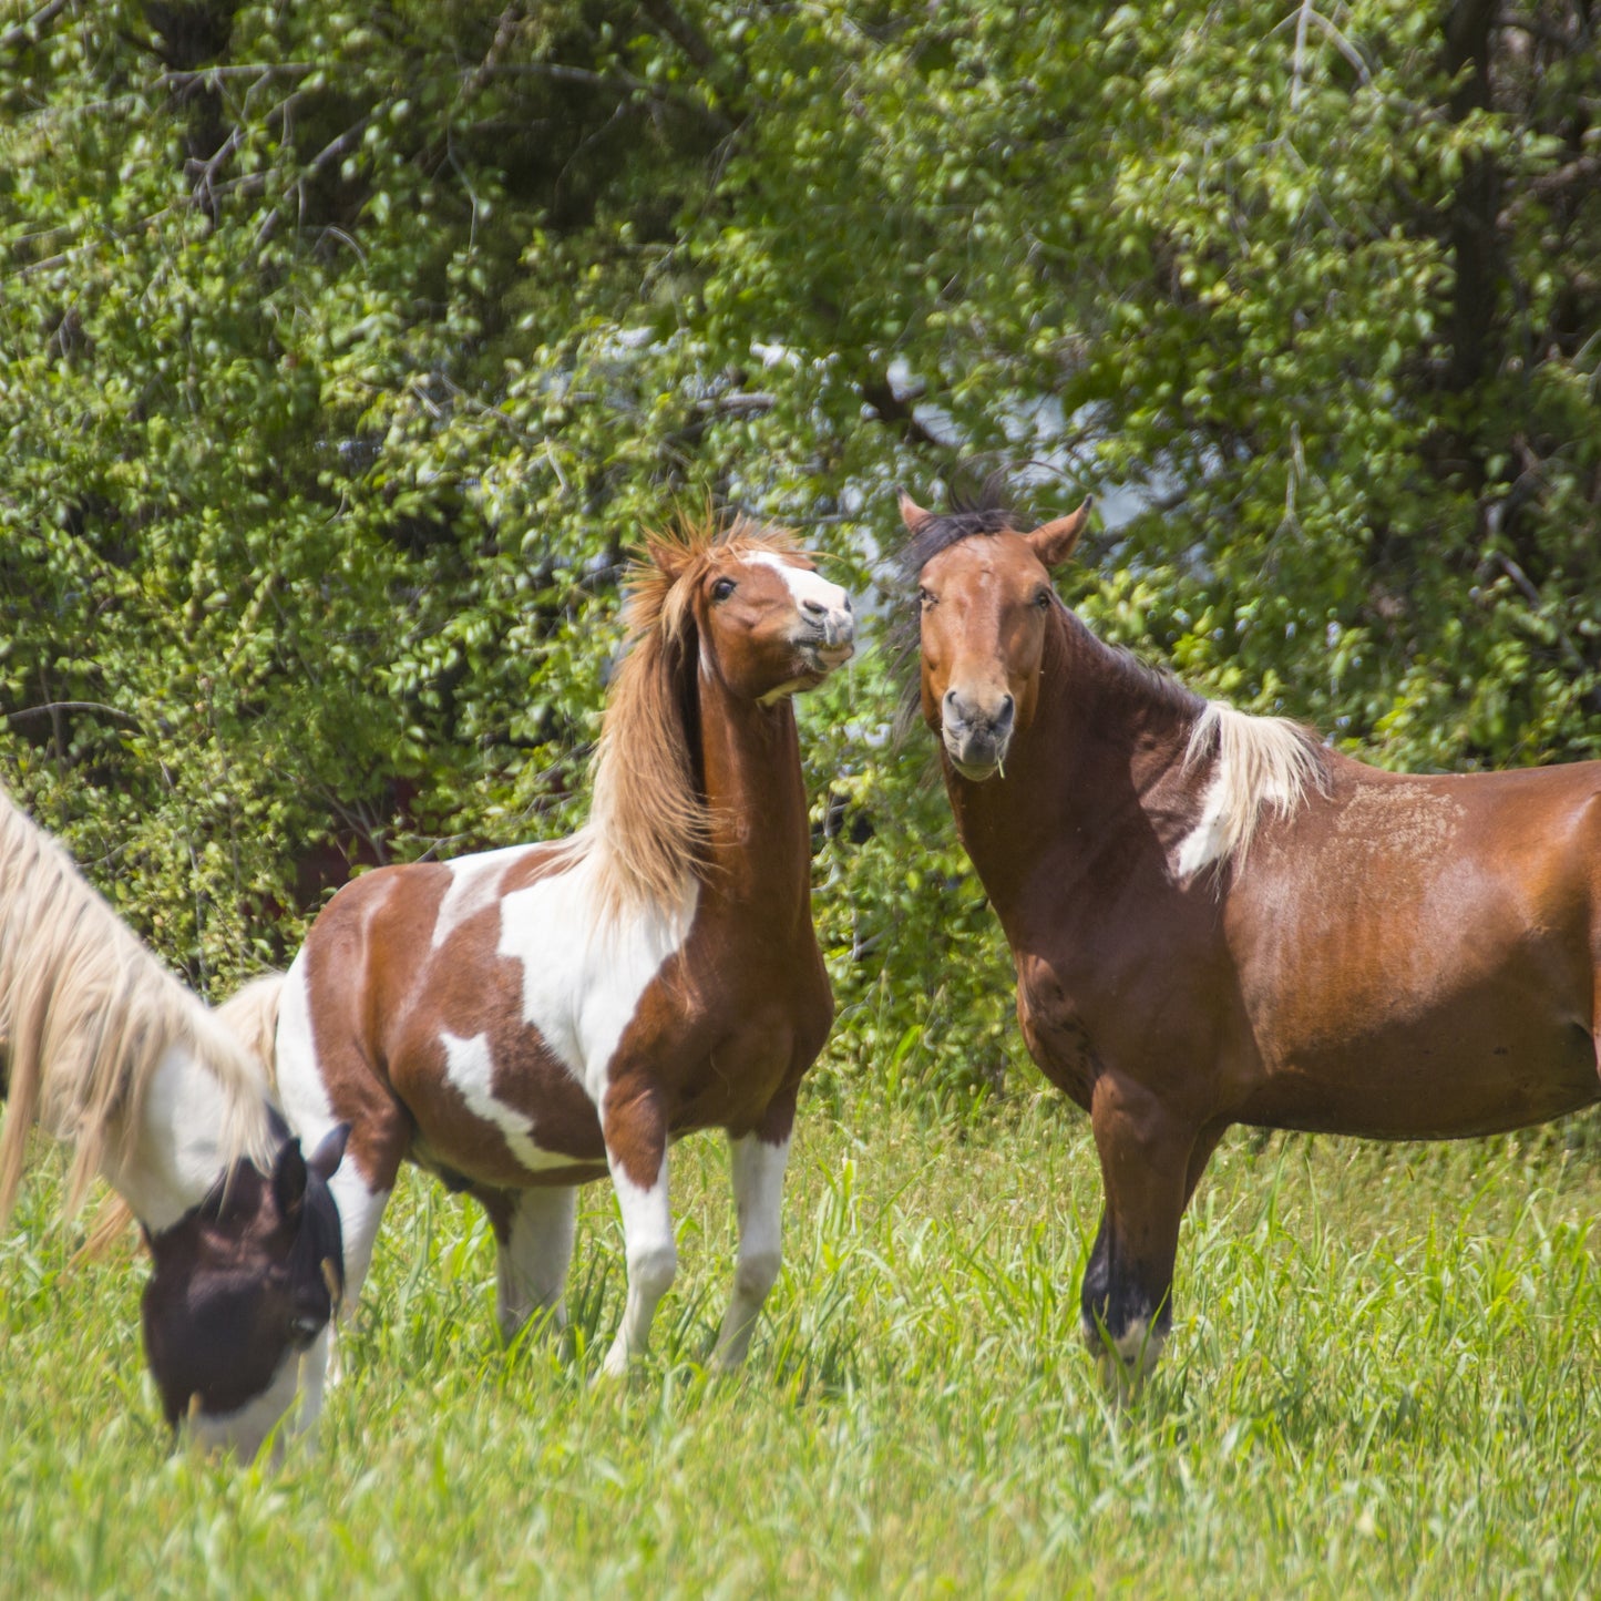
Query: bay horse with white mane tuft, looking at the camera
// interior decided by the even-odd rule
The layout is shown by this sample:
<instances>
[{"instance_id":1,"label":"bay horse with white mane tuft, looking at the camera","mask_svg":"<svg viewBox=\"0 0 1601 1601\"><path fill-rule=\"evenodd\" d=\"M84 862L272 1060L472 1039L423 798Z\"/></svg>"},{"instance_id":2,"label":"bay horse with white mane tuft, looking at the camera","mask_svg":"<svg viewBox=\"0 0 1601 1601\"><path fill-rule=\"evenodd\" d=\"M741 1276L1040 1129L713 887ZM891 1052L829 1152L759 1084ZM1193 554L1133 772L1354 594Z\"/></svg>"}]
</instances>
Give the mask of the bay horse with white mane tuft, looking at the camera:
<instances>
[{"instance_id":1,"label":"bay horse with white mane tuft, looking at the camera","mask_svg":"<svg viewBox=\"0 0 1601 1601\"><path fill-rule=\"evenodd\" d=\"M1230 1124L1460 1138L1601 1098L1601 764L1404 776L1204 701L1057 599L1087 512L901 496L957 834L1095 1134L1082 1318L1122 1391Z\"/></svg>"}]
</instances>

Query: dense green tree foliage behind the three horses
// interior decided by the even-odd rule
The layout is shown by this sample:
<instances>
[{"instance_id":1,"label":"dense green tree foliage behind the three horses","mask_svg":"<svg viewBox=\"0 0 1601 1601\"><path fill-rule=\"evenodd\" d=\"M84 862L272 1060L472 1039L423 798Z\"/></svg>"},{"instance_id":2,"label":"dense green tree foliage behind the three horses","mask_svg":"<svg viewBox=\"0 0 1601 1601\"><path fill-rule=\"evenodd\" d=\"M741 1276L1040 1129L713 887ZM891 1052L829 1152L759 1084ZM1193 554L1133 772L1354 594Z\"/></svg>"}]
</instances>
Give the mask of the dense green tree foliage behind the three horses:
<instances>
[{"instance_id":1,"label":"dense green tree foliage behind the three horses","mask_svg":"<svg viewBox=\"0 0 1601 1601\"><path fill-rule=\"evenodd\" d=\"M1196 687L1596 748L1587 0L3 14L0 778L199 983L352 866L570 826L680 503L882 616L892 487L1033 463ZM895 696L804 708L836 1060L965 1092L1010 983Z\"/></svg>"}]
</instances>

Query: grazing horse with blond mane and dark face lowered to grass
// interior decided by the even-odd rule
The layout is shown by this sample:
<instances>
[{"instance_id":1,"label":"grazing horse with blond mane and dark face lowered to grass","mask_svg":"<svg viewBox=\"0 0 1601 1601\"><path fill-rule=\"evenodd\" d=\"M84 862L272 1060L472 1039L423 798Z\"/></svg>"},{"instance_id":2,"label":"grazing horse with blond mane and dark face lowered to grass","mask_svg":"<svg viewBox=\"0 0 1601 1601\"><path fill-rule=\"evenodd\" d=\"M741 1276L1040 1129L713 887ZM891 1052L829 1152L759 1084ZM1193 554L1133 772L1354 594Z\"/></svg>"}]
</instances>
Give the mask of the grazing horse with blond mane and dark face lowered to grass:
<instances>
[{"instance_id":1,"label":"grazing horse with blond mane and dark face lowered to grass","mask_svg":"<svg viewBox=\"0 0 1601 1601\"><path fill-rule=\"evenodd\" d=\"M229 1021L0 794L0 1226L37 1121L74 1146L67 1210L99 1172L144 1228L168 1423L255 1455L338 1300L343 1135L307 1162ZM280 1398L266 1423L263 1394Z\"/></svg>"}]
</instances>

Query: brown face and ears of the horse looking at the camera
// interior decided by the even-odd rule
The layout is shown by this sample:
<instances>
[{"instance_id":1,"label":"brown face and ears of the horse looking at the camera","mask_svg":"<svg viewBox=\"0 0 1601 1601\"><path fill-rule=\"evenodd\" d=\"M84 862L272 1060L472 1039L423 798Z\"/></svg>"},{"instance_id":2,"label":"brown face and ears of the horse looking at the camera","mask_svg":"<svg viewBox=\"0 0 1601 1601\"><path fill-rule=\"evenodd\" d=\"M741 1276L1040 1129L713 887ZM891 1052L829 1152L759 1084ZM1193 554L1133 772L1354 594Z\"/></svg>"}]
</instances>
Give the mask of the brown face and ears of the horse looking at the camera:
<instances>
[{"instance_id":1,"label":"brown face and ears of the horse looking at the camera","mask_svg":"<svg viewBox=\"0 0 1601 1601\"><path fill-rule=\"evenodd\" d=\"M905 495L901 517L914 535L927 520ZM922 716L964 778L1002 772L1012 740L1033 722L1057 605L1047 568L1071 556L1087 519L1085 501L1033 533L1002 528L951 544L921 570ZM946 591L962 604L941 605Z\"/></svg>"}]
</instances>

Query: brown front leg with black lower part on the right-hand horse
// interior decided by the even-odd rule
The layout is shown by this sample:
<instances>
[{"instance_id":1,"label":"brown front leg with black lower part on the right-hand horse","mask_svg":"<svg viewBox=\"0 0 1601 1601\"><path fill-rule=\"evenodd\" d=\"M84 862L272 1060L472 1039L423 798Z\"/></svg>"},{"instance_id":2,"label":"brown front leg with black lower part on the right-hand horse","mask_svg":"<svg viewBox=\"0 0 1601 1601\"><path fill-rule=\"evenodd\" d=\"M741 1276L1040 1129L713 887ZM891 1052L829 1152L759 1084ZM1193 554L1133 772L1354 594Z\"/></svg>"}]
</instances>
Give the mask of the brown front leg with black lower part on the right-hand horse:
<instances>
[{"instance_id":1,"label":"brown front leg with black lower part on the right-hand horse","mask_svg":"<svg viewBox=\"0 0 1601 1601\"><path fill-rule=\"evenodd\" d=\"M1084 1271L1084 1338L1108 1388L1126 1398L1154 1370L1167 1342L1178 1222L1215 1137L1198 1142L1191 1122L1113 1073L1095 1084L1090 1124L1106 1210Z\"/></svg>"}]
</instances>

